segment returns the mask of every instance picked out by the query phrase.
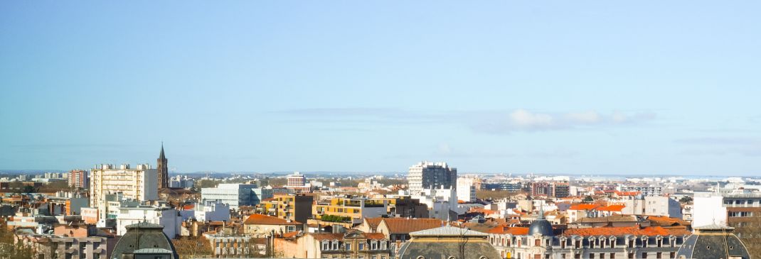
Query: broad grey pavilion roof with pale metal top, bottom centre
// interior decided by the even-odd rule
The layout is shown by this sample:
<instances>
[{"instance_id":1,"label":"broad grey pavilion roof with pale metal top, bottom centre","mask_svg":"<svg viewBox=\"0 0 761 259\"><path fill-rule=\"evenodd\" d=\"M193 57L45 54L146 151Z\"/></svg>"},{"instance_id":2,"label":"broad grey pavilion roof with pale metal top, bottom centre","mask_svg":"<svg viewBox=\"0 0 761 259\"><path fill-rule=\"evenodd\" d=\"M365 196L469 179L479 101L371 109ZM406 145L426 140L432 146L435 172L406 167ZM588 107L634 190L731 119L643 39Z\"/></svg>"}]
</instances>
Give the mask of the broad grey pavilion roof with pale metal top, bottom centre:
<instances>
[{"instance_id":1,"label":"broad grey pavilion roof with pale metal top, bottom centre","mask_svg":"<svg viewBox=\"0 0 761 259\"><path fill-rule=\"evenodd\" d=\"M402 245L399 259L498 259L489 234L454 226L441 226L410 233L412 240Z\"/></svg>"}]
</instances>

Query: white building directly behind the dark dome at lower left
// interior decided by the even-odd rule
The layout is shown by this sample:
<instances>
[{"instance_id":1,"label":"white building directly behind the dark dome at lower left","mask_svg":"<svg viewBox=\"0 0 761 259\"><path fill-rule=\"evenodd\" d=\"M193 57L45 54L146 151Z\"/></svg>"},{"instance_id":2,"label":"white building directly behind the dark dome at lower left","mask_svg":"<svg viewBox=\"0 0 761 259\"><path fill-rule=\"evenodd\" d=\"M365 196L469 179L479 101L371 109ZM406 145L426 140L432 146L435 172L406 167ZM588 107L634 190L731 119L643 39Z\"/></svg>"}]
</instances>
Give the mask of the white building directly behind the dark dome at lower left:
<instances>
[{"instance_id":1,"label":"white building directly behind the dark dome at lower left","mask_svg":"<svg viewBox=\"0 0 761 259\"><path fill-rule=\"evenodd\" d=\"M127 205L119 207L119 216L116 217L116 235L124 235L127 232L126 226L145 221L164 226L164 234L174 238L180 234L182 220L180 213L165 203L158 206Z\"/></svg>"}]
</instances>

